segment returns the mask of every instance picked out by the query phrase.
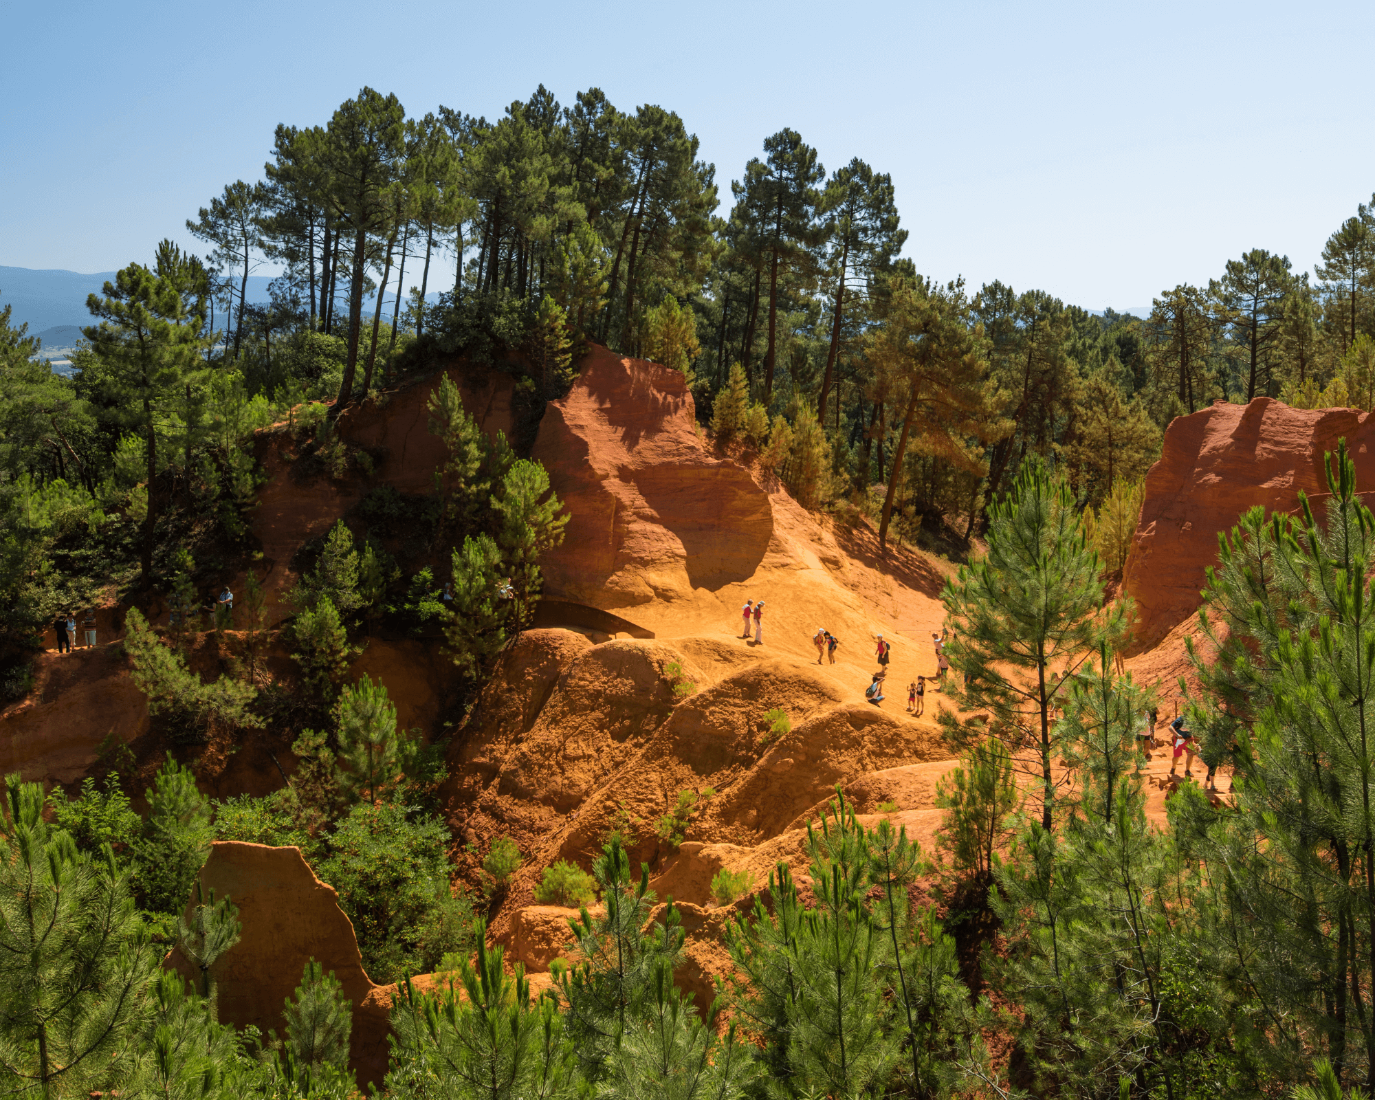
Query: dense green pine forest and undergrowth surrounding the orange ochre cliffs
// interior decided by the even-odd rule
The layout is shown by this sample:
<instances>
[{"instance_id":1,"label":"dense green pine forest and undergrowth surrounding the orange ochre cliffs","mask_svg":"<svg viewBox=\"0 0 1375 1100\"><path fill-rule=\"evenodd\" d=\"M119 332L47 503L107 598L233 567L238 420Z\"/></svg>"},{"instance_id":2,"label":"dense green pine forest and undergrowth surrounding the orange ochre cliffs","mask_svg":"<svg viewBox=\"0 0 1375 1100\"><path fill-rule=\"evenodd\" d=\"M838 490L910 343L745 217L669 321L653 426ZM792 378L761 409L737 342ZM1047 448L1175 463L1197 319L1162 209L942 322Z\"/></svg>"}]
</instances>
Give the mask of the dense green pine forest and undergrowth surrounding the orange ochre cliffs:
<instances>
[{"instance_id":1,"label":"dense green pine forest and undergrowth surrounding the orange ochre cliffs","mask_svg":"<svg viewBox=\"0 0 1375 1100\"><path fill-rule=\"evenodd\" d=\"M828 175L791 129L723 201L676 114L595 89L562 107L540 88L495 122L407 118L363 89L322 125L279 126L264 177L188 219L202 256L165 241L92 296L70 378L0 312L0 694L28 692L55 615L120 604L160 736L270 729L297 759L290 786L212 802L168 758L143 813L120 744L77 792L10 778L0 1090L353 1090L348 1008L318 968L283 1035L217 1023L208 975L235 910L198 898L183 916L213 839L297 844L338 888L368 972L402 982L397 1097L1375 1086L1375 517L1352 463L1332 456L1326 516L1248 514L1225 542L1204 616L1220 656L1196 657L1185 712L1233 793L1184 784L1167 832L1144 813L1152 697L1114 674L1122 610L1103 608L1173 417L1261 395L1375 408L1372 223L1358 206L1312 276L1257 249L1162 290L1150 318L1099 316L918 275L891 179L859 160ZM446 253L458 275L436 287ZM260 264L283 272L265 307L245 301ZM381 685L346 682L370 634L443 634L463 705L529 622L562 518L528 448L590 342L681 371L714 446L804 506L968 557L945 591L949 693L982 720L943 719L964 756L938 850L837 798L813 824L810 886L781 866L767 905L730 924L714 1006L674 987L682 928L671 908L646 925L619 830L590 872L544 869L542 901L604 909L571 931L578 965L532 997L481 923L521 854L465 852L472 881L451 890L443 740L400 729ZM297 476L366 478L374 456L334 430L340 411L458 358L514 375L513 437L488 440L446 381L434 494L370 488L302 547L292 615L270 628L256 433L278 425ZM206 610L236 575L232 615ZM681 833L689 808L657 828ZM173 942L198 987L158 974ZM447 993L406 984L434 971Z\"/></svg>"}]
</instances>

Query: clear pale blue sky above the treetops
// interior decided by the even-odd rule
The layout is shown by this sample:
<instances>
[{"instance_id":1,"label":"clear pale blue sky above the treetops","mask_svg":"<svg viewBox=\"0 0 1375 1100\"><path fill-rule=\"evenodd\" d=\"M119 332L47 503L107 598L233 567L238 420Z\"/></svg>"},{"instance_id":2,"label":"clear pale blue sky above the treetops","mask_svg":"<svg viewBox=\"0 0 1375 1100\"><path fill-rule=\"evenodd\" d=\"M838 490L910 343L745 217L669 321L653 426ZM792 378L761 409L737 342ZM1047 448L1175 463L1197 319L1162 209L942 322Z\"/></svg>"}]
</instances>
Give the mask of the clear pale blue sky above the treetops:
<instances>
[{"instance_id":1,"label":"clear pale blue sky above the treetops","mask_svg":"<svg viewBox=\"0 0 1375 1100\"><path fill-rule=\"evenodd\" d=\"M891 172L908 254L1090 308L1251 248L1310 270L1375 191L1375 3L10 0L0 264L151 257L276 122L370 84L492 118L540 82L676 110L730 180L792 126Z\"/></svg>"}]
</instances>

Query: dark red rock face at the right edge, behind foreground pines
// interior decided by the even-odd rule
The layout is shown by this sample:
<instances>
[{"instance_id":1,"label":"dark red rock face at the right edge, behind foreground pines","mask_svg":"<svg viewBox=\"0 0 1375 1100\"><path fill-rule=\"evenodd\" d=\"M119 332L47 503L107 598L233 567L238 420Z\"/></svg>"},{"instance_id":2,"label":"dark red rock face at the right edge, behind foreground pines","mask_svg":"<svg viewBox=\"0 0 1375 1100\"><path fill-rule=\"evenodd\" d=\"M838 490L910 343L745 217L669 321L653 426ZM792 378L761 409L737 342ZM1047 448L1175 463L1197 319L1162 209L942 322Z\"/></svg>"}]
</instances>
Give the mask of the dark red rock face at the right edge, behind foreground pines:
<instances>
[{"instance_id":1,"label":"dark red rock face at the right edge, behind foreground pines","mask_svg":"<svg viewBox=\"0 0 1375 1100\"><path fill-rule=\"evenodd\" d=\"M1257 397L1247 406L1218 402L1170 424L1163 454L1145 478L1123 576L1137 604L1136 652L1198 610L1220 531L1257 505L1292 512L1299 491L1314 503L1327 495L1323 454L1342 437L1356 461L1357 485L1375 490L1375 421L1368 412L1306 411Z\"/></svg>"}]
</instances>

